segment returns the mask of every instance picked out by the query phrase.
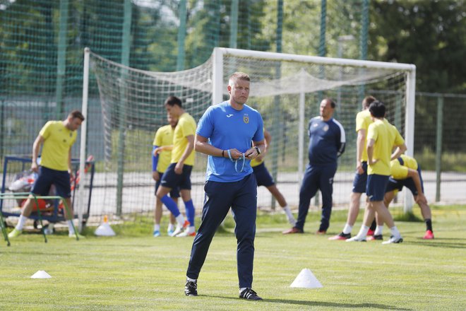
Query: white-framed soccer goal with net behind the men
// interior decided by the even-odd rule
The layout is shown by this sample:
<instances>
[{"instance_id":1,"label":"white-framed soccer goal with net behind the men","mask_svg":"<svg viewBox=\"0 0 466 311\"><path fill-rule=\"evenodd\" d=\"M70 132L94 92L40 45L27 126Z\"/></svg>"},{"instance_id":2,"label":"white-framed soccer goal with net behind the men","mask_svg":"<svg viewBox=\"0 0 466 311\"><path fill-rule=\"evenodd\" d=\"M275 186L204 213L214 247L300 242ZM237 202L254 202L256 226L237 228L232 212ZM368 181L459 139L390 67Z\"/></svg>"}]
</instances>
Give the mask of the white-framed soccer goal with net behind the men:
<instances>
[{"instance_id":1,"label":"white-framed soccer goal with net behind the men","mask_svg":"<svg viewBox=\"0 0 466 311\"><path fill-rule=\"evenodd\" d=\"M301 176L308 161L307 123L319 114L323 98L337 102L334 117L347 137L334 180L334 206L349 205L356 167L355 116L366 95L386 103L386 117L403 134L407 153L412 155L416 71L411 64L215 48L201 66L167 73L132 69L85 49L83 113L88 111L90 96L95 96L88 91L93 77L98 86L98 99L93 100L100 101L101 107L97 112L101 113L103 133L99 148L104 149L104 156L96 159L102 165L97 165L101 170L96 173L98 193L93 197L102 213L153 209L150 146L155 131L167 123L163 102L169 95L178 96L197 121L209 105L228 98L228 78L235 71L251 76L248 104L261 112L265 129L273 138L265 165L292 208L298 205ZM86 132L85 125L82 131ZM83 158L85 149L90 148L86 142L89 135L81 136ZM198 153L191 175L196 209L203 204L205 163L205 156ZM409 210L412 199L407 198L400 197L398 202ZM316 208L318 201L316 198L311 206ZM260 187L259 208L275 209L276 205L267 189Z\"/></svg>"}]
</instances>

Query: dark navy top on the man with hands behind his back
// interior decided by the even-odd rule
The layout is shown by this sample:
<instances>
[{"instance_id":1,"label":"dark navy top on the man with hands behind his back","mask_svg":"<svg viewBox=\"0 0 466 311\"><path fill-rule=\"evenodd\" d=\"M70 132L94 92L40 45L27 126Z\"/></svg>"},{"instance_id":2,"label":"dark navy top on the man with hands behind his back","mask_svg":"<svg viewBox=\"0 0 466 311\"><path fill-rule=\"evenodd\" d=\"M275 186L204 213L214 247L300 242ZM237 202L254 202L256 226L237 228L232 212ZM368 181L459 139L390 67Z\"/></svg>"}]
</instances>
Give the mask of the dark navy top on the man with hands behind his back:
<instances>
[{"instance_id":1,"label":"dark navy top on the man with hands behind his back","mask_svg":"<svg viewBox=\"0 0 466 311\"><path fill-rule=\"evenodd\" d=\"M309 121L309 164L332 164L345 152L345 130L340 122L330 118L323 121L313 117Z\"/></svg>"}]
</instances>

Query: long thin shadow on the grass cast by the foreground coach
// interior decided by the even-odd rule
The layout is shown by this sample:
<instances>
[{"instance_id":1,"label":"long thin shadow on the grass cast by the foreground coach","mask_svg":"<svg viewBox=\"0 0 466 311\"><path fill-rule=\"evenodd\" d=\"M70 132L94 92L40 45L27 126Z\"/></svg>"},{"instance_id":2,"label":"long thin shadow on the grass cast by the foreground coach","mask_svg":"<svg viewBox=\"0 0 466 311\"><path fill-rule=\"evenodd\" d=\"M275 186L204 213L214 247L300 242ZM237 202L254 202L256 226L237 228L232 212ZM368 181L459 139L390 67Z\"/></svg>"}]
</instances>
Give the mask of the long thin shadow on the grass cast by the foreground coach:
<instances>
[{"instance_id":1,"label":"long thin shadow on the grass cast by the foreground coach","mask_svg":"<svg viewBox=\"0 0 466 311\"><path fill-rule=\"evenodd\" d=\"M215 295L199 295L200 297L213 297L213 298L222 298L222 299L232 299L238 300L239 298L225 297L225 296L215 296ZM371 308L371 309L381 309L381 310L412 310L402 307L393 307L391 305L381 305L378 303L332 303L332 302L323 302L323 301L309 301L309 300L289 300L289 299L268 299L264 298L265 303L283 303L289 305L306 305L309 307L345 307L345 308ZM254 303L251 301L251 303ZM257 302L261 303L261 302Z\"/></svg>"}]
</instances>

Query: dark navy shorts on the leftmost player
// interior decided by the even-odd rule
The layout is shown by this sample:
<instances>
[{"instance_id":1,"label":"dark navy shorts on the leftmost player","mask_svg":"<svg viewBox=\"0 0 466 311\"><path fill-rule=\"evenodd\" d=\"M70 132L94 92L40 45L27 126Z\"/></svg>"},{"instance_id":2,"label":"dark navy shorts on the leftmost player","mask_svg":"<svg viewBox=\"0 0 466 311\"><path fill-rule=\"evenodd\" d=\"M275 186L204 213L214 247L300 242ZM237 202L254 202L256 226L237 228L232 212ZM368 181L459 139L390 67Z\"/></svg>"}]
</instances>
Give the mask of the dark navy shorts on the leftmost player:
<instances>
[{"instance_id":1,"label":"dark navy shorts on the leftmost player","mask_svg":"<svg viewBox=\"0 0 466 311\"><path fill-rule=\"evenodd\" d=\"M49 195L50 186L55 185L56 195L71 198L70 174L66 170L39 168L39 175L32 186L31 192L41 196Z\"/></svg>"}]
</instances>

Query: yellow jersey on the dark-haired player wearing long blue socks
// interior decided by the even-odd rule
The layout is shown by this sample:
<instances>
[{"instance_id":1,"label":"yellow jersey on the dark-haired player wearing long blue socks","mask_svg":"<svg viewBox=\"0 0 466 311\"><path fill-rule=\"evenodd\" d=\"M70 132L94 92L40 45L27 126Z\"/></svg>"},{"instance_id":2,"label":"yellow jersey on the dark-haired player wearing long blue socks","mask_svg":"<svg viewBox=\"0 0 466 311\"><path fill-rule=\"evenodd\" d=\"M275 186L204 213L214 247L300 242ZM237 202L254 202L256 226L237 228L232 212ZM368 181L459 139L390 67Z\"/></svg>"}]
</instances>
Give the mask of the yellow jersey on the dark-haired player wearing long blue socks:
<instances>
[{"instance_id":1,"label":"yellow jersey on the dark-haired player wearing long blue socks","mask_svg":"<svg viewBox=\"0 0 466 311\"><path fill-rule=\"evenodd\" d=\"M184 112L178 119L177 127L173 134L173 150L171 163L178 163L179 159L188 146L186 136L196 135L196 122L188 112ZM194 150L191 151L188 158L184 161L186 165L194 165Z\"/></svg>"}]
</instances>

